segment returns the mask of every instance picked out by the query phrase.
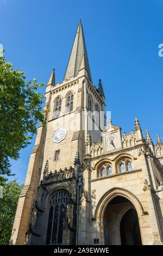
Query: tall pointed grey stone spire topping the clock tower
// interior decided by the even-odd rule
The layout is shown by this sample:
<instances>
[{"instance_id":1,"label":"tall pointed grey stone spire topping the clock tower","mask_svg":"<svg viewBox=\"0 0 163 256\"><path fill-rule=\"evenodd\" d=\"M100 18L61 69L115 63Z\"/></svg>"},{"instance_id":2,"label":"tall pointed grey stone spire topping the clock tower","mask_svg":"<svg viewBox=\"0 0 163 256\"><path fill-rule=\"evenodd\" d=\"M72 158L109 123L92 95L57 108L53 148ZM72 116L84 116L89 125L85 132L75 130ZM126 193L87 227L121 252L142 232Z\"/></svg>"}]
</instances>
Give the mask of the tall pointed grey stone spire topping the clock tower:
<instances>
[{"instance_id":1,"label":"tall pointed grey stone spire topping the clock tower","mask_svg":"<svg viewBox=\"0 0 163 256\"><path fill-rule=\"evenodd\" d=\"M87 76L91 81L91 72L89 68L89 61L87 58L84 33L81 20L79 21L76 36L73 41L73 46L68 60L64 80L69 80L70 77L76 77L79 70L85 68Z\"/></svg>"}]
</instances>

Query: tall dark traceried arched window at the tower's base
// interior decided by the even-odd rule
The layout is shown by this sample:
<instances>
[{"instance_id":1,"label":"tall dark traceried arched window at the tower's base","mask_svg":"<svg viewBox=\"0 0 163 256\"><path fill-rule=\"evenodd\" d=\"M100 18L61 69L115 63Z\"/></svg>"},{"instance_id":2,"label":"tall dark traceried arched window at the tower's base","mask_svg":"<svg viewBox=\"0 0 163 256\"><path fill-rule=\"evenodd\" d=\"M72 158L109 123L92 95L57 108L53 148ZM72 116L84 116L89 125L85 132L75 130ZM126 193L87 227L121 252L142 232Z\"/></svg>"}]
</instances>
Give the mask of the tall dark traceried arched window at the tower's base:
<instances>
[{"instance_id":1,"label":"tall dark traceried arched window at the tower's base","mask_svg":"<svg viewBox=\"0 0 163 256\"><path fill-rule=\"evenodd\" d=\"M66 221L66 209L69 192L55 191L48 200L49 215L46 245L61 245L62 234Z\"/></svg>"}]
</instances>

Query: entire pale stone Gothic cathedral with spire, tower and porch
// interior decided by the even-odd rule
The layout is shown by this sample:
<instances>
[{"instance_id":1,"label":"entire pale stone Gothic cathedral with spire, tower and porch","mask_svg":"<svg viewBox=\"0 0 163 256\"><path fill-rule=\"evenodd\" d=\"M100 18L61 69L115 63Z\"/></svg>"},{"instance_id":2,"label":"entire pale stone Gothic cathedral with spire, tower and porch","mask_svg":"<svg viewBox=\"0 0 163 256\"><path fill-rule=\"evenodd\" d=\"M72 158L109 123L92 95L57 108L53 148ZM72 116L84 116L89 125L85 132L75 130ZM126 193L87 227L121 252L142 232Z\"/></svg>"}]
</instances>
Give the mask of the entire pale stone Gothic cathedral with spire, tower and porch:
<instances>
[{"instance_id":1,"label":"entire pale stone Gothic cathedral with spire, tower and porch","mask_svg":"<svg viewBox=\"0 0 163 256\"><path fill-rule=\"evenodd\" d=\"M11 245L162 245L163 144L106 124L102 81L92 83L81 21L64 80L46 86L17 205ZM133 118L134 119L134 118Z\"/></svg>"}]
</instances>

